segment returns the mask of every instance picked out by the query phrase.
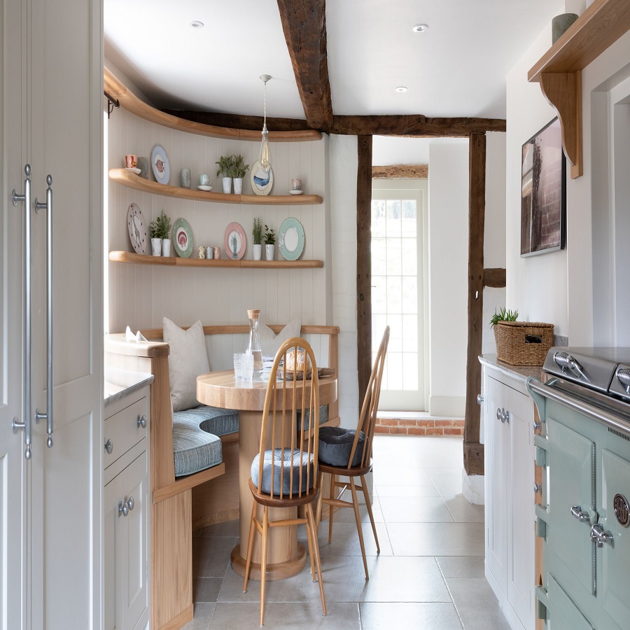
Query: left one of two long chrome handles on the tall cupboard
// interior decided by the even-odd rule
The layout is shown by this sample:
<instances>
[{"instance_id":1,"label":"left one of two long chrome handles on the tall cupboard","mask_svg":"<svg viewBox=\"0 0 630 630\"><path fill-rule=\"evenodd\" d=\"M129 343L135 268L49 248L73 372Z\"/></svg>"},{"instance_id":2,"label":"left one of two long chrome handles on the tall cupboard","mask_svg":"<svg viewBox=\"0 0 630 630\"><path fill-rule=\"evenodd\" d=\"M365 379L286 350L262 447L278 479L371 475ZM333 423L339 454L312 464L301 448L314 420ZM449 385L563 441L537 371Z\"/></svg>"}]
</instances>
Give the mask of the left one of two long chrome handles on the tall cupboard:
<instances>
[{"instance_id":1,"label":"left one of two long chrome handles on the tall cupboard","mask_svg":"<svg viewBox=\"0 0 630 630\"><path fill-rule=\"evenodd\" d=\"M18 195L13 189L11 201L14 206L24 202L24 310L22 325L24 330L24 421L13 419L13 433L24 430L24 456L31 458L31 165L24 167L24 195Z\"/></svg>"}]
</instances>

